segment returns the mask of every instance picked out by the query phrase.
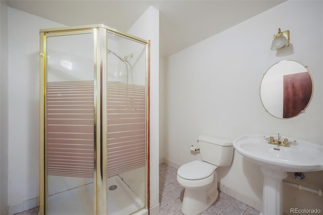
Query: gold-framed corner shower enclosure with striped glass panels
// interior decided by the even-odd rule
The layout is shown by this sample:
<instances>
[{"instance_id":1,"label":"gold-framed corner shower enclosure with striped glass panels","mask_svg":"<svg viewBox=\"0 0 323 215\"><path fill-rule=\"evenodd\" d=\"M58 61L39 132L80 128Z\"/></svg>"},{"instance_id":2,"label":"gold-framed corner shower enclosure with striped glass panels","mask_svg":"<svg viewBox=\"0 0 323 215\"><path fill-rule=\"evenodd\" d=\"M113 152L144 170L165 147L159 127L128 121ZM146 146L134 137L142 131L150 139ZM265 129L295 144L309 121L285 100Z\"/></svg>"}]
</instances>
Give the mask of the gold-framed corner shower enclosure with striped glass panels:
<instances>
[{"instance_id":1,"label":"gold-framed corner shower enclosure with striped glass panels","mask_svg":"<svg viewBox=\"0 0 323 215\"><path fill-rule=\"evenodd\" d=\"M148 214L149 42L40 30L40 214Z\"/></svg>"}]
</instances>

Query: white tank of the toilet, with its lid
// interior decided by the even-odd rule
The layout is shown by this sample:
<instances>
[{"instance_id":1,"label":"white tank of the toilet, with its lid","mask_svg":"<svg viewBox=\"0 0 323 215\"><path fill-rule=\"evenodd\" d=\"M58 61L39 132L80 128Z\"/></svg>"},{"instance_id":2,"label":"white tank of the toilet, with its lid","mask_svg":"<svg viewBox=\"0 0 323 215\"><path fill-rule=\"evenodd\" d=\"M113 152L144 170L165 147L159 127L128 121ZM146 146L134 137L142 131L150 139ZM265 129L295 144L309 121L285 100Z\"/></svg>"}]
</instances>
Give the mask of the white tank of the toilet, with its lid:
<instances>
[{"instance_id":1,"label":"white tank of the toilet, with its lid","mask_svg":"<svg viewBox=\"0 0 323 215\"><path fill-rule=\"evenodd\" d=\"M208 135L198 137L200 155L204 162L218 167L229 166L233 157L232 141Z\"/></svg>"}]
</instances>

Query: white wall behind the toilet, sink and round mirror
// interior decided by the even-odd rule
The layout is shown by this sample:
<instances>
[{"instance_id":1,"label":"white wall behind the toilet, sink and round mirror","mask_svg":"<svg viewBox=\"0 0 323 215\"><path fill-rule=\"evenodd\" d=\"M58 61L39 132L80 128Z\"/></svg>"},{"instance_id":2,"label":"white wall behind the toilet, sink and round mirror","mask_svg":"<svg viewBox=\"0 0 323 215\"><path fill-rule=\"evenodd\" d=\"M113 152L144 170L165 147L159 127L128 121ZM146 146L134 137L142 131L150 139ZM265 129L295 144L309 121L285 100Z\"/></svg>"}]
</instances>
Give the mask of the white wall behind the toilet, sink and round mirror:
<instances>
[{"instance_id":1,"label":"white wall behind the toilet, sink and round mirror","mask_svg":"<svg viewBox=\"0 0 323 215\"><path fill-rule=\"evenodd\" d=\"M197 145L202 133L231 140L243 134L281 133L323 144L322 8L321 1L288 1L169 57L165 67L166 161L183 165L199 159L190 154L189 146ZM272 51L278 28L290 30L291 44ZM259 97L263 73L283 60L307 65L314 81L306 113L289 120L267 114ZM261 201L259 166L235 153L231 166L217 170L221 184ZM310 178L311 173L306 176Z\"/></svg>"}]
</instances>

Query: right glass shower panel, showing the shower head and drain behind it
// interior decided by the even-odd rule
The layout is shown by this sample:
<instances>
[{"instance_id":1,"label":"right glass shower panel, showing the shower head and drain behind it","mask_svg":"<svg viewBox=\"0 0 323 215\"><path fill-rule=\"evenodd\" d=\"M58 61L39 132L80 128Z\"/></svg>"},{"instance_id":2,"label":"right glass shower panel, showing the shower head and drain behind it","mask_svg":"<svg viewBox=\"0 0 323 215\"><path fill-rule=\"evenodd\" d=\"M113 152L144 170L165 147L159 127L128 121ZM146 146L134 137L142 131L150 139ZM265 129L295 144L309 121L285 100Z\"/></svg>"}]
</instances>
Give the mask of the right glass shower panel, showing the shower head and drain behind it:
<instances>
[{"instance_id":1,"label":"right glass shower panel, showing the shower head and drain behind it","mask_svg":"<svg viewBox=\"0 0 323 215\"><path fill-rule=\"evenodd\" d=\"M145 206L146 45L107 34L107 211Z\"/></svg>"}]
</instances>

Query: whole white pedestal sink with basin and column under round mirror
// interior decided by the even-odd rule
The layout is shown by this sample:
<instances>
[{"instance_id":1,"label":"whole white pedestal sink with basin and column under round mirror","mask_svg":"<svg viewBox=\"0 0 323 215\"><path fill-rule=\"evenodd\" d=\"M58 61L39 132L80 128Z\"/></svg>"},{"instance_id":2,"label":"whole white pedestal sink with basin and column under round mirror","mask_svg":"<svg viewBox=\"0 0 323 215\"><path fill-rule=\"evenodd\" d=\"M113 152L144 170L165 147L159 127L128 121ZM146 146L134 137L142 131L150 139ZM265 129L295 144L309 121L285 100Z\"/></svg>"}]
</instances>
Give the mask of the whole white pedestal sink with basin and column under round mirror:
<instances>
[{"instance_id":1,"label":"whole white pedestal sink with basin and column under round mirror","mask_svg":"<svg viewBox=\"0 0 323 215\"><path fill-rule=\"evenodd\" d=\"M260 165L264 175L262 210L260 215L282 214L282 187L287 172L323 170L323 145L289 139L290 147L268 143L269 137L278 135L243 135L233 147L244 157Z\"/></svg>"}]
</instances>

